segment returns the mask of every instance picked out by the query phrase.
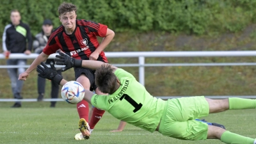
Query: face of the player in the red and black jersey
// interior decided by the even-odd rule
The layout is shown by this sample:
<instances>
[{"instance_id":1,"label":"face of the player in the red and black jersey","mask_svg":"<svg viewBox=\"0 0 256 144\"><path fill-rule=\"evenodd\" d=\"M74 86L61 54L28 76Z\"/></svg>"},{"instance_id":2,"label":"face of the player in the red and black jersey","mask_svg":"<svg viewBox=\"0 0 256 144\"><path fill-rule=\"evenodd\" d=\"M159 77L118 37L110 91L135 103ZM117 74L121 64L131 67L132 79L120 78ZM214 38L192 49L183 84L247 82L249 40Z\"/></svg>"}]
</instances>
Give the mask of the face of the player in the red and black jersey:
<instances>
[{"instance_id":1,"label":"face of the player in the red and black jersey","mask_svg":"<svg viewBox=\"0 0 256 144\"><path fill-rule=\"evenodd\" d=\"M60 15L60 21L66 29L76 28L76 12L67 12Z\"/></svg>"}]
</instances>

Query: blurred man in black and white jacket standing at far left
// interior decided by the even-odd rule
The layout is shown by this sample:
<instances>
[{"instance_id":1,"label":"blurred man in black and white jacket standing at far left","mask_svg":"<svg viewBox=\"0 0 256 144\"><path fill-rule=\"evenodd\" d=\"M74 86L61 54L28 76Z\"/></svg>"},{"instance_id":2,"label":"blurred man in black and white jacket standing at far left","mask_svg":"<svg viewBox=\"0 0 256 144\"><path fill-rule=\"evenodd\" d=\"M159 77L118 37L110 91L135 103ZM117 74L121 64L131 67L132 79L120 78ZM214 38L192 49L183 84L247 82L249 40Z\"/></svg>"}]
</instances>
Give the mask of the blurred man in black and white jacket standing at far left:
<instances>
[{"instance_id":1,"label":"blurred man in black and white jacket standing at far left","mask_svg":"<svg viewBox=\"0 0 256 144\"><path fill-rule=\"evenodd\" d=\"M10 53L31 54L32 36L28 24L24 24L20 19L18 10L12 10L10 13L11 23L5 26L3 33L3 52L6 57L7 65L17 65L19 68L8 68L8 75L12 82L12 92L15 99L22 99L20 91L24 81L19 81L18 76L25 72L26 59L8 59ZM27 49L28 42L28 49ZM12 108L20 108L21 102L17 101Z\"/></svg>"}]
</instances>

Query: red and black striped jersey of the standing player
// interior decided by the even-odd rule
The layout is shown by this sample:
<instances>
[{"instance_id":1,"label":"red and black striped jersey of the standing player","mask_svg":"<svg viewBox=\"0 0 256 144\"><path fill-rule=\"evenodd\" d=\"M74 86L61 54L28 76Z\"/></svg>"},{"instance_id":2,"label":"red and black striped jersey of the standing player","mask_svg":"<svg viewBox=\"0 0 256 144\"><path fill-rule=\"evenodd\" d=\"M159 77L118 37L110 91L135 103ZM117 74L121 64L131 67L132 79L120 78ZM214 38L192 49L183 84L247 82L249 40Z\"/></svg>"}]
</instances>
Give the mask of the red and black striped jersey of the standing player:
<instances>
[{"instance_id":1,"label":"red and black striped jersey of the standing player","mask_svg":"<svg viewBox=\"0 0 256 144\"><path fill-rule=\"evenodd\" d=\"M97 36L105 37L108 26L89 20L76 20L76 29L71 35L65 33L64 26L55 29L44 48L47 55L58 49L79 60L89 60L90 54L99 47ZM104 52L100 52L98 61L108 62Z\"/></svg>"}]
</instances>

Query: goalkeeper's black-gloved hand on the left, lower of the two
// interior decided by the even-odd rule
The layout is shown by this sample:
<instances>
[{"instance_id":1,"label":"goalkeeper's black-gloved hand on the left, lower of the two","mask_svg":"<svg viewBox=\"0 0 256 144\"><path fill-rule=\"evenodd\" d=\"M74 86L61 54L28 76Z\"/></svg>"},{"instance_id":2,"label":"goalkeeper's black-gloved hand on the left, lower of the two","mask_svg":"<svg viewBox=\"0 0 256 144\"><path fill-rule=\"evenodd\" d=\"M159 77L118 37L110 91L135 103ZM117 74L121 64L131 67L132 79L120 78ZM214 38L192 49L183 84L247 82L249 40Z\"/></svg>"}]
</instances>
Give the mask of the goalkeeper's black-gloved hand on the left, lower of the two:
<instances>
[{"instance_id":1,"label":"goalkeeper's black-gloved hand on the left, lower of the two","mask_svg":"<svg viewBox=\"0 0 256 144\"><path fill-rule=\"evenodd\" d=\"M63 77L57 73L56 68L54 67L54 63L50 63L51 68L47 67L47 65L45 65L45 63L43 62L41 62L41 65L38 65L36 68L36 71L39 72L38 76L49 79L51 81L55 81L56 83L60 84Z\"/></svg>"}]
</instances>

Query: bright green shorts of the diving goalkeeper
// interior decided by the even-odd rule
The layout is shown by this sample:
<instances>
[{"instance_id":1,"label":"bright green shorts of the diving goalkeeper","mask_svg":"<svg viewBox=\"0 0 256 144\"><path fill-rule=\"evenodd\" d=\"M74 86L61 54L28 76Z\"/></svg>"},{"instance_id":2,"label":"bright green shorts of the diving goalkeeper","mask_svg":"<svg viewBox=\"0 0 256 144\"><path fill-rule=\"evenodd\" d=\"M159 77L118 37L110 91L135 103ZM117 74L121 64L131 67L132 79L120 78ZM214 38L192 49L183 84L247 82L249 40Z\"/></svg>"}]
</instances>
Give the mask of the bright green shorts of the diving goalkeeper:
<instances>
[{"instance_id":1,"label":"bright green shorts of the diving goalkeeper","mask_svg":"<svg viewBox=\"0 0 256 144\"><path fill-rule=\"evenodd\" d=\"M204 96L168 99L159 132L180 140L206 140L208 125L195 120L209 115Z\"/></svg>"}]
</instances>

